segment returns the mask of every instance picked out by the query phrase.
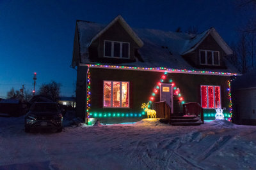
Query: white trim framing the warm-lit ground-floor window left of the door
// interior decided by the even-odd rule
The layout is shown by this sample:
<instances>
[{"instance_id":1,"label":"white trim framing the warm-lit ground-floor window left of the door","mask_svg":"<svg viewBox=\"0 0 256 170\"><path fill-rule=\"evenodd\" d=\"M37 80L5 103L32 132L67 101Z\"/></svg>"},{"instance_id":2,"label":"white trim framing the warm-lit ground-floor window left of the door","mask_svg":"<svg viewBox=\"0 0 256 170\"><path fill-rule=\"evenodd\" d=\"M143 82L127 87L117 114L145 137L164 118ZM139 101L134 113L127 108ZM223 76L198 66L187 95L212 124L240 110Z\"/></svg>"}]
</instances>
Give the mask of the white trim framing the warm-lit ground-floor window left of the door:
<instances>
[{"instance_id":1,"label":"white trim framing the warm-lit ground-floor window left of the door","mask_svg":"<svg viewBox=\"0 0 256 170\"><path fill-rule=\"evenodd\" d=\"M104 106L104 81L110 81L111 82L111 106ZM119 82L120 83L120 106L119 107L113 107L113 82ZM128 107L122 107L122 83L128 83ZM130 108L130 82L129 81L115 81L115 80L103 80L103 108Z\"/></svg>"}]
</instances>

